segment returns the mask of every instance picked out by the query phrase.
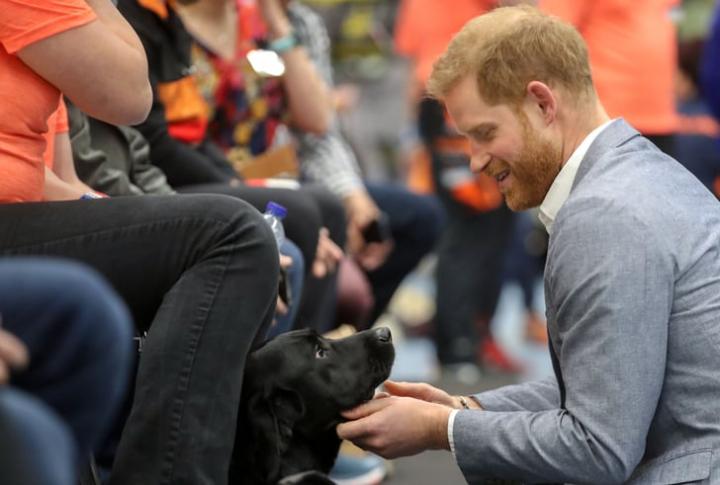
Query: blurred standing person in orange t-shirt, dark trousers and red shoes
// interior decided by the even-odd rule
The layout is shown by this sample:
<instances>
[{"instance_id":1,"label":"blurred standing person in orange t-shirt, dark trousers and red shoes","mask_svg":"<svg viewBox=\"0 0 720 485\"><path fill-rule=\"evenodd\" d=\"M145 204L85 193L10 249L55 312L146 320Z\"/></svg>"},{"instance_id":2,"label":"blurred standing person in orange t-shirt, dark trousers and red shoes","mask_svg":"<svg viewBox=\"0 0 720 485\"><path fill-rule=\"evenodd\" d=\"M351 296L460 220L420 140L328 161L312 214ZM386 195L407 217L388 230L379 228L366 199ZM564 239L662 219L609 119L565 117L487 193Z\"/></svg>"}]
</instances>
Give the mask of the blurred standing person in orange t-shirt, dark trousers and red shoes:
<instances>
[{"instance_id":1,"label":"blurred standing person in orange t-shirt, dark trousers and red shoes","mask_svg":"<svg viewBox=\"0 0 720 485\"><path fill-rule=\"evenodd\" d=\"M469 19L496 4L496 0L462 0L448 8L439 0L404 0L395 29L398 53L413 62L407 96L424 147L416 152L420 155L415 157L411 173L424 170L428 162L430 165L429 180L420 182L425 187L414 183L417 177L411 184L436 192L446 216L435 270L437 356L441 365L468 378L477 374L476 364L518 370L490 333L513 216L504 206L495 181L470 171L469 145L444 107L425 95L425 83L451 36ZM540 327L542 332L544 325Z\"/></svg>"}]
</instances>

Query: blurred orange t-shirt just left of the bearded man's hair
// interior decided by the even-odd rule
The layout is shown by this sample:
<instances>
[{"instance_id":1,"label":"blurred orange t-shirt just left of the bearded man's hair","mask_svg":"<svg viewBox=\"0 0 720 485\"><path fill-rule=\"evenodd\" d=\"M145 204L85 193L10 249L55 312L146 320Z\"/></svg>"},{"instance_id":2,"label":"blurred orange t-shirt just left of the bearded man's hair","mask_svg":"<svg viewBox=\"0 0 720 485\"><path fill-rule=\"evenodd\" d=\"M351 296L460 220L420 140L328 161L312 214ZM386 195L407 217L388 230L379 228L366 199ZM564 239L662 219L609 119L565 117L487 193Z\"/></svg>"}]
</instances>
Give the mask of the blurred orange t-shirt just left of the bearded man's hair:
<instances>
[{"instance_id":1,"label":"blurred orange t-shirt just left of the bearded man's hair","mask_svg":"<svg viewBox=\"0 0 720 485\"><path fill-rule=\"evenodd\" d=\"M424 85L452 37L496 4L497 0L403 0L395 24L395 50L415 61L415 78Z\"/></svg>"}]
</instances>

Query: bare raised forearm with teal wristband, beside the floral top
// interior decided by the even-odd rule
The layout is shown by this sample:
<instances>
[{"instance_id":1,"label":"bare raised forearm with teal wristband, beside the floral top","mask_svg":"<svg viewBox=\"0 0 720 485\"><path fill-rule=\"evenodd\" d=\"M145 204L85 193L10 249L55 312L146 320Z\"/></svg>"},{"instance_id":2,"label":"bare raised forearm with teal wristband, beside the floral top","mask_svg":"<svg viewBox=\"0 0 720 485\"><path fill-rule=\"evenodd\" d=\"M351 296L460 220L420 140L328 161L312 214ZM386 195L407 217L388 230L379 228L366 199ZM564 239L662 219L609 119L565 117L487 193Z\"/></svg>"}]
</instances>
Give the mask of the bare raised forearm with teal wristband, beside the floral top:
<instances>
[{"instance_id":1,"label":"bare raised forearm with teal wristband, beside the floral top","mask_svg":"<svg viewBox=\"0 0 720 485\"><path fill-rule=\"evenodd\" d=\"M287 37L293 32L279 0L258 0L258 5L271 41ZM294 127L310 133L325 133L333 117L333 99L328 85L315 69L304 47L296 46L280 56L285 63L283 86Z\"/></svg>"}]
</instances>

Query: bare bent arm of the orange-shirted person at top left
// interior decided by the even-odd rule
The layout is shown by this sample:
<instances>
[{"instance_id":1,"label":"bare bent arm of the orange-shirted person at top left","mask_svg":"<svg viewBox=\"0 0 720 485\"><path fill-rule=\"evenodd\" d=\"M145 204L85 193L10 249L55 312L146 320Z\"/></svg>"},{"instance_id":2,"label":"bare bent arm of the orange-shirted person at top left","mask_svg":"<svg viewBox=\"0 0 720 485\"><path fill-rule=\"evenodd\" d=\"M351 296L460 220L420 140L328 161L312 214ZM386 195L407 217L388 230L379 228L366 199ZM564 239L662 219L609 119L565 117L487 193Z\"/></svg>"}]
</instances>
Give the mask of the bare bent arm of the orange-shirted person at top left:
<instances>
[{"instance_id":1,"label":"bare bent arm of the orange-shirted person at top left","mask_svg":"<svg viewBox=\"0 0 720 485\"><path fill-rule=\"evenodd\" d=\"M31 43L17 55L89 115L139 123L152 100L142 45L109 0L87 4L95 20Z\"/></svg>"}]
</instances>

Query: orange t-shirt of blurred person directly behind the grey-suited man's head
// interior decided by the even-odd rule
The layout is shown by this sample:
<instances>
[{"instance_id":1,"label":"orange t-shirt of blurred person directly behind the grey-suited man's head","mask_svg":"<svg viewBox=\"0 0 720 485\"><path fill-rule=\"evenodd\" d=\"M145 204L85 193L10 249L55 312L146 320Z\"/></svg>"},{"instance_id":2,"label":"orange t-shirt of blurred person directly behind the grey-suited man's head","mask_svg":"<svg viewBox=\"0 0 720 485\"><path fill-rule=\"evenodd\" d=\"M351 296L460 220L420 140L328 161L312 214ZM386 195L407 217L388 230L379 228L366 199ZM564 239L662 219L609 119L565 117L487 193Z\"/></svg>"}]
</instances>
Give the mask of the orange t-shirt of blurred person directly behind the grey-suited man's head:
<instances>
[{"instance_id":1,"label":"orange t-shirt of blurred person directly behind the grey-suited man's head","mask_svg":"<svg viewBox=\"0 0 720 485\"><path fill-rule=\"evenodd\" d=\"M593 81L611 117L649 135L677 127L677 66L671 9L679 0L540 0L585 38Z\"/></svg>"}]
</instances>

